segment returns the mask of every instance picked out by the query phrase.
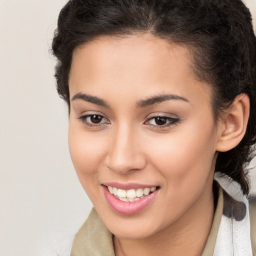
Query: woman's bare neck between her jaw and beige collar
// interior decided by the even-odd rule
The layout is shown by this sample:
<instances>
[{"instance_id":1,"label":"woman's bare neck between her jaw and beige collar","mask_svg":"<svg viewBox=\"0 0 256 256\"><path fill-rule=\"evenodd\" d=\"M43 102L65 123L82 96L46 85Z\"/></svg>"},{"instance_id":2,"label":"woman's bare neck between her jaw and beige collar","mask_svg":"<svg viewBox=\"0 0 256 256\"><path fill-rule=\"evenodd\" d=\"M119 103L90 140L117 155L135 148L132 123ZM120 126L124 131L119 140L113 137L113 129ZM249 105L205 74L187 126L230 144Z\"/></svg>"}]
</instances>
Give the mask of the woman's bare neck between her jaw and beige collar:
<instances>
[{"instance_id":1,"label":"woman's bare neck between her jaw and beige collar","mask_svg":"<svg viewBox=\"0 0 256 256\"><path fill-rule=\"evenodd\" d=\"M113 238L116 256L199 256L210 232L214 199L211 186L174 223L150 237L131 240Z\"/></svg>"}]
</instances>

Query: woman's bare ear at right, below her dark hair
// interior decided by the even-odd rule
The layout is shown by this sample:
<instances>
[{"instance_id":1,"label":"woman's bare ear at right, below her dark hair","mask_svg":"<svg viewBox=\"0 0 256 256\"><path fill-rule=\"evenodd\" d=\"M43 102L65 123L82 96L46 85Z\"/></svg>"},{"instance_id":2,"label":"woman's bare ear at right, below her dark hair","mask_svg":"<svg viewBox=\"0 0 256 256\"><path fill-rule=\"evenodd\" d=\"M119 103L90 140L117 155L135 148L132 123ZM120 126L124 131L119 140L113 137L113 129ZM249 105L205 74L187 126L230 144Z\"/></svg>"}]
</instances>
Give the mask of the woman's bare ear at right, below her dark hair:
<instances>
[{"instance_id":1,"label":"woman's bare ear at right, below her dark hair","mask_svg":"<svg viewBox=\"0 0 256 256\"><path fill-rule=\"evenodd\" d=\"M217 151L228 151L238 145L245 134L248 118L249 97L242 93L235 97L224 118L219 121Z\"/></svg>"}]
</instances>

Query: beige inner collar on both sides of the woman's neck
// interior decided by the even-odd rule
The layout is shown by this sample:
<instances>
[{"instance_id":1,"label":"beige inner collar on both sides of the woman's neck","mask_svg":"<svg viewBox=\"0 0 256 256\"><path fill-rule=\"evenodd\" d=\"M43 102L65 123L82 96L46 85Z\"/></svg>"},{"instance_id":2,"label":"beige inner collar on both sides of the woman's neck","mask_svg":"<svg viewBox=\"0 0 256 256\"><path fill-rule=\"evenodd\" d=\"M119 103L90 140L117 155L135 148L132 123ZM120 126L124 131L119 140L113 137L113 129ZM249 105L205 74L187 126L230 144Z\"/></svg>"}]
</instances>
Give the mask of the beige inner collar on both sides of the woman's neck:
<instances>
[{"instance_id":1,"label":"beige inner collar on both sides of the woman's neck","mask_svg":"<svg viewBox=\"0 0 256 256\"><path fill-rule=\"evenodd\" d=\"M223 193L219 187L213 222L202 256L213 255L222 210ZM115 256L112 233L102 223L94 207L74 237L70 256Z\"/></svg>"}]
</instances>

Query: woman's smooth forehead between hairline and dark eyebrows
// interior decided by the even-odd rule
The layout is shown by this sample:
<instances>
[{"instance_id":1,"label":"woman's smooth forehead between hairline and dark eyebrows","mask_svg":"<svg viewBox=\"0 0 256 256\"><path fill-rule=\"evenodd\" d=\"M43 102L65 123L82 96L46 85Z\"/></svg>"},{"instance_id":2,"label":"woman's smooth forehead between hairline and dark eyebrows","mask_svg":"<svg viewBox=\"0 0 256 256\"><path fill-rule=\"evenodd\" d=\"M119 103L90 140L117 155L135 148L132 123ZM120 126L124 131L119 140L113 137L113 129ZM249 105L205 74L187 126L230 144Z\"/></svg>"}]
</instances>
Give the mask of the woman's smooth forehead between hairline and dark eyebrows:
<instances>
[{"instance_id":1,"label":"woman's smooth forehead between hairline and dark eyebrows","mask_svg":"<svg viewBox=\"0 0 256 256\"><path fill-rule=\"evenodd\" d=\"M211 86L198 81L192 70L192 56L185 46L152 34L100 36L74 50L69 91L70 96L85 90L104 98L114 90L137 100L175 93L192 101L209 101Z\"/></svg>"}]
</instances>

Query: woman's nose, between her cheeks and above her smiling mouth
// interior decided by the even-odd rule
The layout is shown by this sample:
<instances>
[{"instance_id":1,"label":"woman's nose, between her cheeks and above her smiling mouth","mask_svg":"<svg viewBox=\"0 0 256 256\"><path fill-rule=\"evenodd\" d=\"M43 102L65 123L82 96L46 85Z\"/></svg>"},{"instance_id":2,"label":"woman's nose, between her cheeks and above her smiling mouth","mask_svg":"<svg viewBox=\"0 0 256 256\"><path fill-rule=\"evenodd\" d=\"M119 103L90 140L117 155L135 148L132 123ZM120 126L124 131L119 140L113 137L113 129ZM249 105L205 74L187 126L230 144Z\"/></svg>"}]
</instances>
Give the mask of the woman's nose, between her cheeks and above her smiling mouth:
<instances>
[{"instance_id":1,"label":"woman's nose, between her cheeks and above her smiling mouth","mask_svg":"<svg viewBox=\"0 0 256 256\"><path fill-rule=\"evenodd\" d=\"M139 134L127 125L112 131L106 156L106 166L112 171L125 174L143 169L146 157L142 151L142 141Z\"/></svg>"}]
</instances>

